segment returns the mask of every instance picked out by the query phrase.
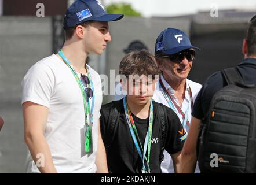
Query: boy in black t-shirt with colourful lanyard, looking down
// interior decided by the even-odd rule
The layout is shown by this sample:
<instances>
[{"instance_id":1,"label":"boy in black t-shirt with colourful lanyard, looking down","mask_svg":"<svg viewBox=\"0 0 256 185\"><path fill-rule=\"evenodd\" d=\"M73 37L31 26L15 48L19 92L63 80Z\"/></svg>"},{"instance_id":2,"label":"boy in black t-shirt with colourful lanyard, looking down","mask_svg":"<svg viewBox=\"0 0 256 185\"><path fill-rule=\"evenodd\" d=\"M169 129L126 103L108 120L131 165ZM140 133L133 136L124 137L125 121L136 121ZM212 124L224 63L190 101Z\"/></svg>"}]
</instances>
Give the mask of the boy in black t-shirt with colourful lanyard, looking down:
<instances>
[{"instance_id":1,"label":"boy in black t-shirt with colourful lanyard, looking down","mask_svg":"<svg viewBox=\"0 0 256 185\"><path fill-rule=\"evenodd\" d=\"M177 115L151 100L159 76L149 51L132 51L119 66L126 97L101 107L101 135L110 173L161 173L163 149L171 154L175 171L185 142Z\"/></svg>"}]
</instances>

